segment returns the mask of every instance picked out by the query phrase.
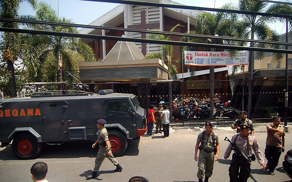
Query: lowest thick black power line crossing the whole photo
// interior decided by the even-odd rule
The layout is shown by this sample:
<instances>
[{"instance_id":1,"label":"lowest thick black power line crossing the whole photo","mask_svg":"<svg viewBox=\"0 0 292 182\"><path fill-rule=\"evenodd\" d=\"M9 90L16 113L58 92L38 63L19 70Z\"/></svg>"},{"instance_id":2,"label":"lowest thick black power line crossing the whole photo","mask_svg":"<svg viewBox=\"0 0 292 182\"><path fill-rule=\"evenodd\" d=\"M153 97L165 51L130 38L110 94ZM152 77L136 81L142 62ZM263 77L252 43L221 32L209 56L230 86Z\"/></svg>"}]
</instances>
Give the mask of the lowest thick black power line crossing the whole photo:
<instances>
[{"instance_id":1,"label":"lowest thick black power line crossing the whole photo","mask_svg":"<svg viewBox=\"0 0 292 182\"><path fill-rule=\"evenodd\" d=\"M128 41L128 42L153 43L153 44L164 44L164 45L210 47L210 48L219 48L219 49L248 50L248 51L260 51L260 52L279 52L279 53L292 54L292 50L270 49L270 48L260 48L260 47L242 47L242 46L233 46L233 45L218 45L218 44L169 41L169 40L153 40L153 39L142 39L142 38L101 36L101 35L91 35L91 34L81 34L81 33L66 33L66 32L56 32L56 31L14 29L14 28L3 28L3 27L0 28L0 31L15 32L15 33L31 33L31 34L50 35L50 36L78 37L78 38L88 38L88 39L120 40L120 41Z\"/></svg>"}]
</instances>

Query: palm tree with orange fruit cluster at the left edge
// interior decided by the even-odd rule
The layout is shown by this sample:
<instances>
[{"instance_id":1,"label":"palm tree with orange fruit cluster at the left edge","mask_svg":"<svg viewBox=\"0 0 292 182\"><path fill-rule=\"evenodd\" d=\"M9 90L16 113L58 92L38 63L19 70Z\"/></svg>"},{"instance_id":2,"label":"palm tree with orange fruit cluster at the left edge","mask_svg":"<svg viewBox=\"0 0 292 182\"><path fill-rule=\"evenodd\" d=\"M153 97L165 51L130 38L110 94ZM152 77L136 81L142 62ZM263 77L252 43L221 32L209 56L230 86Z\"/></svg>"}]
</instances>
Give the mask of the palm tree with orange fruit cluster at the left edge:
<instances>
[{"instance_id":1,"label":"palm tree with orange fruit cluster at the left edge","mask_svg":"<svg viewBox=\"0 0 292 182\"><path fill-rule=\"evenodd\" d=\"M18 10L20 4L24 0L0 0L0 17L1 18L18 18ZM33 7L36 4L36 0L26 0ZM15 22L1 22L2 27L8 28L18 28L18 23ZM16 95L16 85L15 85L15 73L14 73L14 62L18 60L19 57L19 40L20 34L13 32L2 33L2 38L4 39L2 59L7 64L7 70L9 73L9 87L11 92L11 97Z\"/></svg>"}]
</instances>

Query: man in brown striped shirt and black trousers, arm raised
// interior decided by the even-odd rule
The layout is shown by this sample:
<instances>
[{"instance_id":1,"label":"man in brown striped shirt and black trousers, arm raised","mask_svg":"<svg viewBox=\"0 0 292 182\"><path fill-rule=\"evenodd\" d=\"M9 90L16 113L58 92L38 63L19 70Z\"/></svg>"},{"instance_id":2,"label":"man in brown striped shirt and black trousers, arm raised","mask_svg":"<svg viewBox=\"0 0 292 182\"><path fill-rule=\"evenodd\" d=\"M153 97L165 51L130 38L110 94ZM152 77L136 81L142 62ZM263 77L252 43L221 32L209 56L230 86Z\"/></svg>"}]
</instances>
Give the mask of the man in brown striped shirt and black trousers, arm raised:
<instances>
[{"instance_id":1,"label":"man in brown striped shirt and black trousers, arm raised","mask_svg":"<svg viewBox=\"0 0 292 182\"><path fill-rule=\"evenodd\" d=\"M274 170L278 165L281 153L284 152L285 130L280 126L281 119L279 116L273 117L273 123L267 125L267 140L265 157L267 158L267 167L269 172L274 175Z\"/></svg>"}]
</instances>

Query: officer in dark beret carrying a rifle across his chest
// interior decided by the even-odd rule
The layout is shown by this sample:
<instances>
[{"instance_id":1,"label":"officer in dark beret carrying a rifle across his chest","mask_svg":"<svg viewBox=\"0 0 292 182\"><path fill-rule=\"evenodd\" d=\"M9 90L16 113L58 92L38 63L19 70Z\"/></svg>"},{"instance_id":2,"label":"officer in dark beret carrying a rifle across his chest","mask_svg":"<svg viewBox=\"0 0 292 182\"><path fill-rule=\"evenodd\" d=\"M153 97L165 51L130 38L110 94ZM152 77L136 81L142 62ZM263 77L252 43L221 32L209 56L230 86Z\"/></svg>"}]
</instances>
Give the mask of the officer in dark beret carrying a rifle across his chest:
<instances>
[{"instance_id":1,"label":"officer in dark beret carrying a rifle across his chest","mask_svg":"<svg viewBox=\"0 0 292 182\"><path fill-rule=\"evenodd\" d=\"M251 127L245 124L241 124L239 127L240 133L234 134L231 141L238 146L247 158L253 158L251 153L251 149L253 149L260 166L265 170L264 157L260 151L256 137L250 135ZM224 153L224 159L227 159L230 156L231 150L232 144L230 143ZM246 182L250 176L250 171L250 163L246 162L246 160L234 150L229 167L230 182Z\"/></svg>"}]
</instances>

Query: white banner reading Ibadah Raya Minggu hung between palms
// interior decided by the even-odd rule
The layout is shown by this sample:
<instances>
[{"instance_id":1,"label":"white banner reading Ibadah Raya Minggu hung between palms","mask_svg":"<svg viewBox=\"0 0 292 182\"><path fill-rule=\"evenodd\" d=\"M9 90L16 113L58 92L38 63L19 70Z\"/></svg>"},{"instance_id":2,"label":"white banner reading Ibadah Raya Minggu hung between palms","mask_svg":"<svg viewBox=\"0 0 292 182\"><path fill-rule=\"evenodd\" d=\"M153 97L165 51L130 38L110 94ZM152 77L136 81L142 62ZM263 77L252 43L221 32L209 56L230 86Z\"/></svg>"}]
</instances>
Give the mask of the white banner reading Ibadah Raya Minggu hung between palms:
<instances>
[{"instance_id":1,"label":"white banner reading Ibadah Raya Minggu hung between palms","mask_svg":"<svg viewBox=\"0 0 292 182\"><path fill-rule=\"evenodd\" d=\"M229 52L185 51L187 66L228 66L248 64L248 51L238 51L236 56Z\"/></svg>"}]
</instances>

